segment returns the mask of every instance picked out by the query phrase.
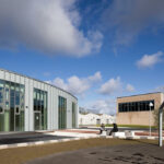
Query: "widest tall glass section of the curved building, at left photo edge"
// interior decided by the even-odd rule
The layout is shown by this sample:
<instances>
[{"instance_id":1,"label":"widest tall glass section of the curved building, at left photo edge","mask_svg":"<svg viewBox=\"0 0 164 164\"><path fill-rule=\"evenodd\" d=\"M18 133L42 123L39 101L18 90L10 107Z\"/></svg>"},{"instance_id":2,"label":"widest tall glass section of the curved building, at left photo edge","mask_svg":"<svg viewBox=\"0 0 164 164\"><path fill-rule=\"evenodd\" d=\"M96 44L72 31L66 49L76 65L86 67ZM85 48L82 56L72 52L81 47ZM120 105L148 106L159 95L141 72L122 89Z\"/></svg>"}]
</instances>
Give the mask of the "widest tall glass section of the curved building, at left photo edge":
<instances>
[{"instance_id":1,"label":"widest tall glass section of the curved building, at left photo edge","mask_svg":"<svg viewBox=\"0 0 164 164\"><path fill-rule=\"evenodd\" d=\"M0 80L0 131L24 131L24 85Z\"/></svg>"}]
</instances>

